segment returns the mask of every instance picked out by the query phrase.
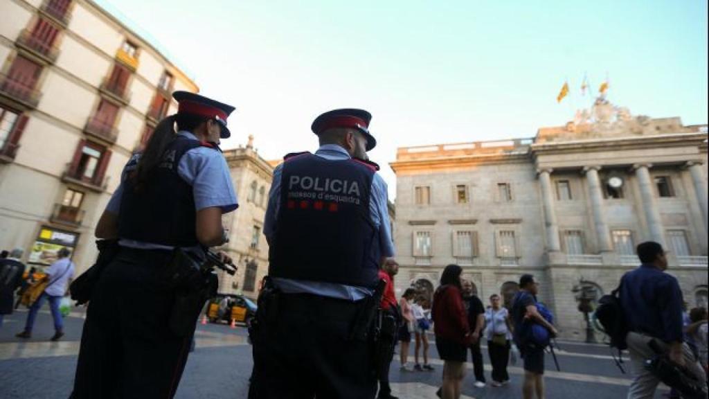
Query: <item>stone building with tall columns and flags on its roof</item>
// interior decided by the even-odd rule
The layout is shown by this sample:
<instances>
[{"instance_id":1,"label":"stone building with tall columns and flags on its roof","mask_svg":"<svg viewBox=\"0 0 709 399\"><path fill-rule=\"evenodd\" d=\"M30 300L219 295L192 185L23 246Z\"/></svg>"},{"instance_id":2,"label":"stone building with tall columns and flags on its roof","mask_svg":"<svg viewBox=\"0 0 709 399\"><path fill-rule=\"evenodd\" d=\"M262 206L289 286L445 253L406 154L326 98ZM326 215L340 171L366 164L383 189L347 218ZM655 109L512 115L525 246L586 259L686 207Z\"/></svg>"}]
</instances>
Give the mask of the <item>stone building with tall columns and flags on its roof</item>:
<instances>
[{"instance_id":1,"label":"stone building with tall columns and flags on its roof","mask_svg":"<svg viewBox=\"0 0 709 399\"><path fill-rule=\"evenodd\" d=\"M398 290L432 290L457 263L484 300L509 301L532 273L562 335L579 338L580 293L609 293L654 240L690 307L707 306L706 125L598 99L535 138L398 148L391 167Z\"/></svg>"}]
</instances>

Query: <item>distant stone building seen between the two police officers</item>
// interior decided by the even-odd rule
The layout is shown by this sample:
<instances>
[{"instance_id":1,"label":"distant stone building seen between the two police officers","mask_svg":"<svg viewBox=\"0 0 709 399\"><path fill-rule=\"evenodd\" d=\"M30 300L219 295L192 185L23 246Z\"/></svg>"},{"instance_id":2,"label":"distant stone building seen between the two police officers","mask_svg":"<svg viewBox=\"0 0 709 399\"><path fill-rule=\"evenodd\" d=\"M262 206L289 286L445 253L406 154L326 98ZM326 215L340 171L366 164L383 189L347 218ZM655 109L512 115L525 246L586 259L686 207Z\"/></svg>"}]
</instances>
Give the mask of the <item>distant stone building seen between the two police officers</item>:
<instances>
[{"instance_id":1,"label":"distant stone building seen between the two police officers","mask_svg":"<svg viewBox=\"0 0 709 399\"><path fill-rule=\"evenodd\" d=\"M239 207L223 217L223 225L229 229L229 242L221 249L230 254L238 270L233 276L220 275L219 292L242 294L255 300L261 280L268 272L268 243L263 225L277 163L261 158L253 140L249 136L245 147L224 151Z\"/></svg>"}]
</instances>

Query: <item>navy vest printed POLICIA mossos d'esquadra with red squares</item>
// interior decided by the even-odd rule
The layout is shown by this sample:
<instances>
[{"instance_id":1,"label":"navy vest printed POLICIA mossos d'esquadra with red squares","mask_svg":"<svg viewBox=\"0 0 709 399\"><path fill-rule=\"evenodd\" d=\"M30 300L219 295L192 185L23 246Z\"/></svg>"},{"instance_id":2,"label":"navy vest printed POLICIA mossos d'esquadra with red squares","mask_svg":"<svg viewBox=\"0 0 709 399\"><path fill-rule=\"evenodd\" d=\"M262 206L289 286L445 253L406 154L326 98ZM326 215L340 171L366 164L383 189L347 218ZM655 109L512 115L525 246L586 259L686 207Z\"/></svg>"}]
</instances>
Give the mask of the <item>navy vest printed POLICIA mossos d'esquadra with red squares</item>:
<instances>
[{"instance_id":1,"label":"navy vest printed POLICIA mossos d'esquadra with red squares","mask_svg":"<svg viewBox=\"0 0 709 399\"><path fill-rule=\"evenodd\" d=\"M373 287L381 257L369 211L374 173L362 160L286 155L269 275Z\"/></svg>"}]
</instances>

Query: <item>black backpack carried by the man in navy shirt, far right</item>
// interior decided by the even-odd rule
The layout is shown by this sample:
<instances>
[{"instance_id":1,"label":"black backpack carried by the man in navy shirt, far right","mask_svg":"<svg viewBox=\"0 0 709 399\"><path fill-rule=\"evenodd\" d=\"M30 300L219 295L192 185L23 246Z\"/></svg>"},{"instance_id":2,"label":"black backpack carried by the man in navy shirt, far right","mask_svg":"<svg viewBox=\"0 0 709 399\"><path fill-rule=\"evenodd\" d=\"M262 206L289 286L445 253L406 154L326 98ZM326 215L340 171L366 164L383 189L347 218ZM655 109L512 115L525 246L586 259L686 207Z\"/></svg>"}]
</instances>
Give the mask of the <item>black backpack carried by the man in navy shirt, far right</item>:
<instances>
[{"instance_id":1,"label":"black backpack carried by the man in navy shirt, far right","mask_svg":"<svg viewBox=\"0 0 709 399\"><path fill-rule=\"evenodd\" d=\"M625 322L625 314L623 313L623 306L620 305L620 288L623 287L623 280L620 280L620 285L615 288L610 294L603 295L600 300L598 300L598 307L596 308L596 319L598 323L601 324L603 332L610 338L610 347L618 349L618 357L620 360L613 360L615 364L620 368L620 371L625 373L623 366L623 349L627 349L627 343L625 342L625 336L627 335L629 329L627 327L627 322Z\"/></svg>"}]
</instances>

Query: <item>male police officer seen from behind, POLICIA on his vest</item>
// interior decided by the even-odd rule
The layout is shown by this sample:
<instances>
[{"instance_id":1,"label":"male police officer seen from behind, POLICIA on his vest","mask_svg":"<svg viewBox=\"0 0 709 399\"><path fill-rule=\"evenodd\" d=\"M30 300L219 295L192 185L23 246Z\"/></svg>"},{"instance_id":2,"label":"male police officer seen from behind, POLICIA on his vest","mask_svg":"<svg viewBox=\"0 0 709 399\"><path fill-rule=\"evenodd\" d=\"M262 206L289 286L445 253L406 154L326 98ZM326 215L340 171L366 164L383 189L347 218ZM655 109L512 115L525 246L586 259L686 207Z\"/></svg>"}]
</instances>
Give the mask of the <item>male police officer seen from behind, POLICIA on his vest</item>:
<instances>
[{"instance_id":1,"label":"male police officer seen from behind, POLICIA on his vest","mask_svg":"<svg viewBox=\"0 0 709 399\"><path fill-rule=\"evenodd\" d=\"M361 109L318 116L318 151L286 155L274 170L250 398L374 398L374 343L357 331L379 305L372 295L393 243L386 183L367 161L371 119Z\"/></svg>"}]
</instances>

